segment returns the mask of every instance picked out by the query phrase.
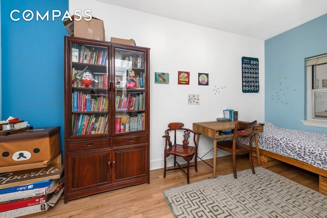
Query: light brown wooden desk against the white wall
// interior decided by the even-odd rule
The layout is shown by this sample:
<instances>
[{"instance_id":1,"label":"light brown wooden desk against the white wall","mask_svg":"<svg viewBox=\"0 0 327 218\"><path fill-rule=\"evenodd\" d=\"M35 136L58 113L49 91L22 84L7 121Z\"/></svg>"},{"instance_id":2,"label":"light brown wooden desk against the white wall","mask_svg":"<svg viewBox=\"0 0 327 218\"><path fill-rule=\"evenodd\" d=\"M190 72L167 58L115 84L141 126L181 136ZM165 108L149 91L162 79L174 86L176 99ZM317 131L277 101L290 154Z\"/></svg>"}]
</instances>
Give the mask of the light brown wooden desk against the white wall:
<instances>
[{"instance_id":1,"label":"light brown wooden desk against the white wall","mask_svg":"<svg viewBox=\"0 0 327 218\"><path fill-rule=\"evenodd\" d=\"M217 139L232 137L233 134L229 135L219 135L219 131L223 130L233 130L235 128L236 121L223 122L223 121L213 121L213 122L202 122L202 123L193 123L193 130L202 133L203 135L209 136L214 139L214 176L216 176L216 159L217 159ZM256 147L256 154L258 157L258 165L260 165L260 153L259 153L259 142L258 142L258 133L264 131L264 126L262 124L256 124L254 131L254 140ZM198 143L199 144L199 143Z\"/></svg>"}]
</instances>

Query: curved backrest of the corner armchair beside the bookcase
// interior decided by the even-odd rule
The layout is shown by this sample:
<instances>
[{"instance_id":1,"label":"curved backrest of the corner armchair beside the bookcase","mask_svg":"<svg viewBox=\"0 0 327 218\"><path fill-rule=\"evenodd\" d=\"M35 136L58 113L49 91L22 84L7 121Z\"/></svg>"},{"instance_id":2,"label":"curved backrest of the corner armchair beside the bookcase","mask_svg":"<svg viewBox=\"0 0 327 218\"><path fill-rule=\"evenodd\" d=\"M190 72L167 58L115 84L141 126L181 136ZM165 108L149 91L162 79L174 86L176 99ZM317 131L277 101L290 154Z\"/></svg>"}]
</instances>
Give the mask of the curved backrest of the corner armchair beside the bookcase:
<instances>
[{"instance_id":1,"label":"curved backrest of the corner armchair beside the bookcase","mask_svg":"<svg viewBox=\"0 0 327 218\"><path fill-rule=\"evenodd\" d=\"M168 127L169 129L165 130L165 135L162 136L166 137L166 149L167 146L171 147L173 144L198 147L198 138L196 136L199 137L201 133L184 128L184 124L182 123L170 123ZM173 137L173 140L171 137ZM190 137L193 139L192 141L189 140ZM190 142L192 143L190 144Z\"/></svg>"}]
</instances>

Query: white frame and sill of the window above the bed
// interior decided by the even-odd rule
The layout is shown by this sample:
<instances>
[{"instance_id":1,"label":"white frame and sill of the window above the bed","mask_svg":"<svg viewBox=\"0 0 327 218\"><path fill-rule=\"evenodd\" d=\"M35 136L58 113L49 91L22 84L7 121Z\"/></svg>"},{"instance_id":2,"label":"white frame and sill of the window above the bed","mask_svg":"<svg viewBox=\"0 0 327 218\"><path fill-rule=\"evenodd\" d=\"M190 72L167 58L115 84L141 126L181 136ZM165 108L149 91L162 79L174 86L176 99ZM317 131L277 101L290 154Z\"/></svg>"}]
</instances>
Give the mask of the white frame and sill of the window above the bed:
<instances>
[{"instance_id":1,"label":"white frame and sill of the window above the bed","mask_svg":"<svg viewBox=\"0 0 327 218\"><path fill-rule=\"evenodd\" d=\"M313 58L306 59L306 66L307 66L307 86L306 86L306 92L307 92L307 117L305 120L301 120L301 122L306 126L313 126L313 127L324 127L327 128L327 119L323 118L315 118L314 117L314 92L315 91L324 91L325 89L313 89L312 88L312 66L321 64L321 63L327 63L327 54L316 56Z\"/></svg>"}]
</instances>

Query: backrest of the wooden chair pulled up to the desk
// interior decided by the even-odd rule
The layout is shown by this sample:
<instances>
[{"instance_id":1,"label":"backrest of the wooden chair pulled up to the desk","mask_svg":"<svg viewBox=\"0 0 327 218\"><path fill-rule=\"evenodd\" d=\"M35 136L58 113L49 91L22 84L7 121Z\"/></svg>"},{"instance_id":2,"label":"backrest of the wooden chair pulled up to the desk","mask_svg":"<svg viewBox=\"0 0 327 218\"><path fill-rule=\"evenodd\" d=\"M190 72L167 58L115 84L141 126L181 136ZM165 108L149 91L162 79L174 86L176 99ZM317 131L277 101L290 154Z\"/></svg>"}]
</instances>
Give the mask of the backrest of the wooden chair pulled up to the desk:
<instances>
[{"instance_id":1,"label":"backrest of the wooden chair pulled up to the desk","mask_svg":"<svg viewBox=\"0 0 327 218\"><path fill-rule=\"evenodd\" d=\"M250 139L249 146L252 147L255 126L256 126L256 120L250 123L237 121L235 124L233 140L236 141L237 138L239 137L249 138ZM245 130L245 132L242 132L242 130Z\"/></svg>"}]
</instances>

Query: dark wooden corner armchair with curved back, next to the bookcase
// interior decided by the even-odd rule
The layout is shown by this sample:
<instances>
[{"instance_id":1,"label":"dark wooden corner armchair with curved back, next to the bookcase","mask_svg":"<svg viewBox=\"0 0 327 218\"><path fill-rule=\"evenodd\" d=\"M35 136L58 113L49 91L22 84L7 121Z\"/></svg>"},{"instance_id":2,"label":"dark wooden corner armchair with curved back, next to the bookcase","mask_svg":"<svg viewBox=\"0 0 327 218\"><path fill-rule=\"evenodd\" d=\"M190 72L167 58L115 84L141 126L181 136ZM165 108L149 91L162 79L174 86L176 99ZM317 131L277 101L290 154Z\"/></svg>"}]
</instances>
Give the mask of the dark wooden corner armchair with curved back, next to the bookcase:
<instances>
[{"instance_id":1,"label":"dark wooden corner armchair with curved back, next to the bookcase","mask_svg":"<svg viewBox=\"0 0 327 218\"><path fill-rule=\"evenodd\" d=\"M166 171L181 169L184 172L184 174L186 174L189 184L190 167L195 166L195 171L198 172L197 156L198 156L199 136L201 133L193 131L188 128L183 128L183 126L184 124L182 123L170 123L168 124L169 129L165 130L165 135L162 136L163 138L166 138L164 178L166 178ZM191 138L190 141L189 138ZM174 155L175 167L167 169L167 157L169 157L170 155ZM193 159L194 156L195 156L194 165L190 165L190 161ZM187 166L181 166L176 161L176 157L182 157L185 161L187 161L188 162ZM176 164L178 165L177 167ZM186 172L184 170L185 167L187 168Z\"/></svg>"}]
</instances>

